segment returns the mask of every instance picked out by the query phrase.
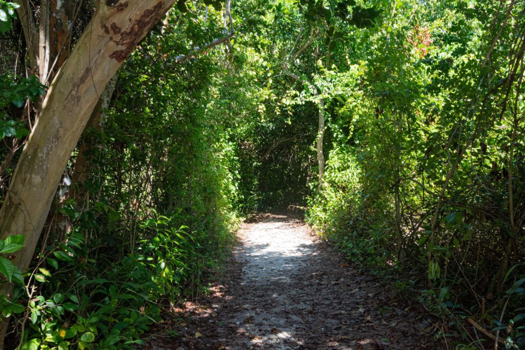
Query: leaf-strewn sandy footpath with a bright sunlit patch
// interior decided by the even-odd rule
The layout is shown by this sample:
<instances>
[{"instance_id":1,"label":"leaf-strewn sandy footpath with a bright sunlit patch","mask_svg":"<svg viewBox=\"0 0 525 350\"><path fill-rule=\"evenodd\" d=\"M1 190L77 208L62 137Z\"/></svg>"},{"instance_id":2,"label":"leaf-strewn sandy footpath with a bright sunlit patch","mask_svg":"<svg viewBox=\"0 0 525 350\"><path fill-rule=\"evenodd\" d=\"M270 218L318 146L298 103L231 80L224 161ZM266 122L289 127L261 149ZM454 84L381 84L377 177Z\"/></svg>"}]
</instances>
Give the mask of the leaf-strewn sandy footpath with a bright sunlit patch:
<instances>
[{"instance_id":1,"label":"leaf-strewn sandy footpath with a bright sunlit patch","mask_svg":"<svg viewBox=\"0 0 525 350\"><path fill-rule=\"evenodd\" d=\"M424 310L353 269L297 214L246 222L222 281L176 308L152 349L445 349Z\"/></svg>"}]
</instances>

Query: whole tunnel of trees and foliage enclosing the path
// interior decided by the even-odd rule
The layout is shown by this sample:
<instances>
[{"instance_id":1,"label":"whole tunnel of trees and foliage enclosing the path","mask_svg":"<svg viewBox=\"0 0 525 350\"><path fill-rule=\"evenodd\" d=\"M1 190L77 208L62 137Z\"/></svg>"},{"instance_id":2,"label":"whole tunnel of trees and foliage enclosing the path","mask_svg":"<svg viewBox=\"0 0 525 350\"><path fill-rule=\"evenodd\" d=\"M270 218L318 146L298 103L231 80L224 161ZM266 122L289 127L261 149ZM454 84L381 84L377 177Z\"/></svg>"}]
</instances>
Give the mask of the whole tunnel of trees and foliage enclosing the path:
<instances>
[{"instance_id":1,"label":"whole tunnel of trees and foliage enclosing the path","mask_svg":"<svg viewBox=\"0 0 525 350\"><path fill-rule=\"evenodd\" d=\"M524 14L0 0L0 349L131 349L290 206L436 336L524 347Z\"/></svg>"}]
</instances>

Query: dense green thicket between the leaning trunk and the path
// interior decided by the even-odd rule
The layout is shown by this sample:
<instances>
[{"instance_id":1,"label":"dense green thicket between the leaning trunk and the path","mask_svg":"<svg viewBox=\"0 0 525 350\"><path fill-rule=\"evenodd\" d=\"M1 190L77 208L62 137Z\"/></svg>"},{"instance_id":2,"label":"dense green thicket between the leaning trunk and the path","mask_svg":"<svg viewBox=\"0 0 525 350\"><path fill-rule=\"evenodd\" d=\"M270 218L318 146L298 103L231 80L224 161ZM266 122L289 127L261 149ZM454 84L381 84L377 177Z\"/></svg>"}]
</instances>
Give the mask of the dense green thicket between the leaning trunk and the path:
<instances>
[{"instance_id":1,"label":"dense green thicket between the leaning trunk and the path","mask_svg":"<svg viewBox=\"0 0 525 350\"><path fill-rule=\"evenodd\" d=\"M0 273L23 282L14 301L0 301L19 325L8 346L131 348L164 307L205 292L203 275L224 260L238 222L238 161L221 105L226 89L214 86L238 63L222 50L170 63L191 39L222 27L215 12L212 34L185 17L174 11L151 31L118 73L111 102L93 113L25 280L0 258ZM43 90L34 77L5 86L3 136L23 137L7 104L23 107L23 97Z\"/></svg>"}]
</instances>

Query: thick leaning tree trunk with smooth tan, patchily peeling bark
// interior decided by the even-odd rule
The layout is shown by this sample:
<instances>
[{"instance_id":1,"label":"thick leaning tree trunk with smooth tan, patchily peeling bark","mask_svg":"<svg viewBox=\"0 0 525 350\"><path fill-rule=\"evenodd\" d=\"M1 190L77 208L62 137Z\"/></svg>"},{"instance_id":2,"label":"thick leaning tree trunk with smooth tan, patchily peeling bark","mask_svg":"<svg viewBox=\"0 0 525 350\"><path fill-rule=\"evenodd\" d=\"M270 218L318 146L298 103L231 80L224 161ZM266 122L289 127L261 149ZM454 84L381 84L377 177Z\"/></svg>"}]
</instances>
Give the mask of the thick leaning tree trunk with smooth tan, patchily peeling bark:
<instances>
[{"instance_id":1,"label":"thick leaning tree trunk with smooth tan, patchily peeling bark","mask_svg":"<svg viewBox=\"0 0 525 350\"><path fill-rule=\"evenodd\" d=\"M107 2L110 3L110 2ZM108 81L174 0L99 0L98 11L51 83L38 121L20 155L0 211L0 239L25 235L12 254L29 267L60 176ZM12 287L3 283L0 294ZM3 349L8 320L0 324Z\"/></svg>"}]
</instances>

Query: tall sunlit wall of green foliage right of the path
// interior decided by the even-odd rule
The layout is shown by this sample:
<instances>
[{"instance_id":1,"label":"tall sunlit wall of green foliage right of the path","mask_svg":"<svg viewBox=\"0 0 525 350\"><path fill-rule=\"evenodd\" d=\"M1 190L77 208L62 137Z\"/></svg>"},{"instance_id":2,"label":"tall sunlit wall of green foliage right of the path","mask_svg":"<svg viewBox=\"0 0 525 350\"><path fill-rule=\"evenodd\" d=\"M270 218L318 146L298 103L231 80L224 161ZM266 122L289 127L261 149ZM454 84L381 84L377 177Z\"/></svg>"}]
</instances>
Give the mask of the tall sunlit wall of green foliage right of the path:
<instances>
[{"instance_id":1,"label":"tall sunlit wall of green foliage right of the path","mask_svg":"<svg viewBox=\"0 0 525 350\"><path fill-rule=\"evenodd\" d=\"M359 60L337 75L343 102L308 215L353 259L390 265L424 288L432 312L480 317L517 348L525 341L524 23L521 5L501 4L388 9ZM451 329L481 346L470 326Z\"/></svg>"}]
</instances>

